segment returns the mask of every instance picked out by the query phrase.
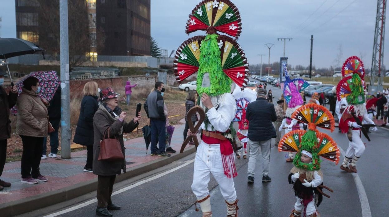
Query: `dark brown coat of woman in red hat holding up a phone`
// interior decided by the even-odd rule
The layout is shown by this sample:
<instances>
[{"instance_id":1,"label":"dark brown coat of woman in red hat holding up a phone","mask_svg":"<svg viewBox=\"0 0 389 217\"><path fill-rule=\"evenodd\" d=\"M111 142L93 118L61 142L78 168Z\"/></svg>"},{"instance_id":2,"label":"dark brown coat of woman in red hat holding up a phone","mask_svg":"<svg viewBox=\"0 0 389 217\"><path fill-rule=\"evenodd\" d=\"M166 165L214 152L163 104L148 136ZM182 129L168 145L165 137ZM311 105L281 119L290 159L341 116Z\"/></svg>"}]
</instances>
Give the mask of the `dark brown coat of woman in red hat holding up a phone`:
<instances>
[{"instance_id":1,"label":"dark brown coat of woman in red hat holding up a phone","mask_svg":"<svg viewBox=\"0 0 389 217\"><path fill-rule=\"evenodd\" d=\"M121 170L126 172L126 162L123 161L99 161L98 156L100 154L100 140L103 139L104 132L109 128L110 137L116 139L120 142L123 155L124 152L124 141L123 134L118 134L123 127L123 133L130 133L138 126L138 123L134 123L131 120L130 123L121 122L119 120L112 120L112 117L108 116L107 111L103 111L101 106L96 111L95 116L93 117L93 132L94 132L94 143L93 143L93 173L96 175L120 175ZM107 133L108 134L108 133ZM108 137L108 135L106 135Z\"/></svg>"}]
</instances>

